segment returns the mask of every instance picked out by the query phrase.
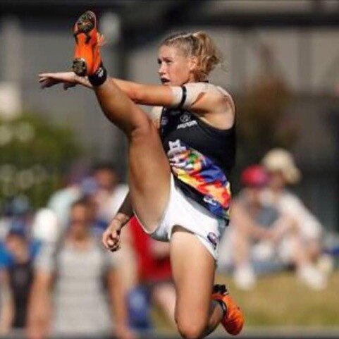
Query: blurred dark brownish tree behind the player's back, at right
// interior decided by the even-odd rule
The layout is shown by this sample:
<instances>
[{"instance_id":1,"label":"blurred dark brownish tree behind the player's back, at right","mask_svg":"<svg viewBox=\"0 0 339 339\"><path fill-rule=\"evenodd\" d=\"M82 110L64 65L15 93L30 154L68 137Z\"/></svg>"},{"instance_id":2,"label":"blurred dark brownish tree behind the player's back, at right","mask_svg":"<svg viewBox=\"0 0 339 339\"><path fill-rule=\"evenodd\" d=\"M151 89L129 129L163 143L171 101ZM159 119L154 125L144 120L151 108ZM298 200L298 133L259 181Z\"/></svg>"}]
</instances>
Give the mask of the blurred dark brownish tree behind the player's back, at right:
<instances>
[{"instance_id":1,"label":"blurred dark brownish tree behind the player's back, at right","mask_svg":"<svg viewBox=\"0 0 339 339\"><path fill-rule=\"evenodd\" d=\"M299 134L297 125L287 115L292 92L283 81L269 47L261 45L259 56L259 75L244 93L235 97L238 112L235 189L242 168L258 163L273 147L290 149Z\"/></svg>"}]
</instances>

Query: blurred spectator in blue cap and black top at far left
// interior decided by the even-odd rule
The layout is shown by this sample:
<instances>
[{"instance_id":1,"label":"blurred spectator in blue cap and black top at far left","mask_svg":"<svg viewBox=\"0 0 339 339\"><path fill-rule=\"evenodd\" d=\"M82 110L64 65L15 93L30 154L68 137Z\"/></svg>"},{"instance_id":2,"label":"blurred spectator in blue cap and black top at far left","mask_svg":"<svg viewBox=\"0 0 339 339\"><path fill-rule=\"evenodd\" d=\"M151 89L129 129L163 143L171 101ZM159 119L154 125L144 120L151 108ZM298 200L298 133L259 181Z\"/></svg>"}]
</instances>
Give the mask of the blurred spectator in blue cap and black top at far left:
<instances>
[{"instance_id":1,"label":"blurred spectator in blue cap and black top at far left","mask_svg":"<svg viewBox=\"0 0 339 339\"><path fill-rule=\"evenodd\" d=\"M0 249L1 293L0 333L24 328L33 278L33 260L39 244L27 236L27 225L14 220Z\"/></svg>"}]
</instances>

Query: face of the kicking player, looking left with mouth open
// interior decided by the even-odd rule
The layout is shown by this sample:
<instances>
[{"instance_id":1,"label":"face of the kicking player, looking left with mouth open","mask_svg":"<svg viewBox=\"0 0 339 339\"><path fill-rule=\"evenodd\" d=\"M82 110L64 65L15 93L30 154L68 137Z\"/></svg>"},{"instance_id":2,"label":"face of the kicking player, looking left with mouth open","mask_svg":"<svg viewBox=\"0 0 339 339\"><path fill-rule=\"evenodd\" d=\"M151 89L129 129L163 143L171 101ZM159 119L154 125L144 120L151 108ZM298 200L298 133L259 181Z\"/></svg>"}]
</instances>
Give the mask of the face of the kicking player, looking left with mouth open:
<instances>
[{"instance_id":1,"label":"face of the kicking player, looking left with mouth open","mask_svg":"<svg viewBox=\"0 0 339 339\"><path fill-rule=\"evenodd\" d=\"M173 46L161 46L158 56L159 77L163 85L181 86L186 82L194 82L194 62Z\"/></svg>"}]
</instances>

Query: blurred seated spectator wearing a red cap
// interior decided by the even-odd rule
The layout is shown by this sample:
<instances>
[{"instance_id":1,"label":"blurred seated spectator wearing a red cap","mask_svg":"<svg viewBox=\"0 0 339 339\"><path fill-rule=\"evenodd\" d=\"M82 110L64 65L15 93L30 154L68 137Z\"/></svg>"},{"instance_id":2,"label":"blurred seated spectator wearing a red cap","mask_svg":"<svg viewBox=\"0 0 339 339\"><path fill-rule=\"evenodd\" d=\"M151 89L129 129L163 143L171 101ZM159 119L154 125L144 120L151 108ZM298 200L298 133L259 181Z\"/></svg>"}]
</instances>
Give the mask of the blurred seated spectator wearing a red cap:
<instances>
[{"instance_id":1,"label":"blurred seated spectator wearing a red cap","mask_svg":"<svg viewBox=\"0 0 339 339\"><path fill-rule=\"evenodd\" d=\"M267 179L261 166L249 166L242 172L243 189L233 199L231 225L221 244L220 264L225 264L223 261L226 258L232 260L232 263L226 264L232 264L235 284L243 290L249 290L255 285L253 261L270 259L271 263L269 266L265 263L265 269L271 271L281 268L281 264L274 260L273 244L279 240L289 221L275 208L262 204L261 192ZM269 253L266 251L263 258L262 249L265 244L269 244L271 250ZM270 254L269 258L267 254ZM261 269L264 269L262 264Z\"/></svg>"}]
</instances>

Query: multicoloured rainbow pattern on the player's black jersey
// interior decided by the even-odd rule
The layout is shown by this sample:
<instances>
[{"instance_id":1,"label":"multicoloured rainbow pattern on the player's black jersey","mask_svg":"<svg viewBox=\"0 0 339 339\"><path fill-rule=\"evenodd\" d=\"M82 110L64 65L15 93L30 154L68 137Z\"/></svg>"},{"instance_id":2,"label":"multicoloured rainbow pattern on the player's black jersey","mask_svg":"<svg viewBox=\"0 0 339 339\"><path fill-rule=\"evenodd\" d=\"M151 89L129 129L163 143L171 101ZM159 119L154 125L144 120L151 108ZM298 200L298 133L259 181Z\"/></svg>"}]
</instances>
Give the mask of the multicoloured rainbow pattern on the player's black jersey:
<instances>
[{"instance_id":1,"label":"multicoloured rainbow pattern on the player's black jersey","mask_svg":"<svg viewBox=\"0 0 339 339\"><path fill-rule=\"evenodd\" d=\"M167 156L175 177L203 195L209 211L229 219L230 183L221 168L180 140L169 142Z\"/></svg>"}]
</instances>

